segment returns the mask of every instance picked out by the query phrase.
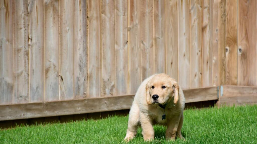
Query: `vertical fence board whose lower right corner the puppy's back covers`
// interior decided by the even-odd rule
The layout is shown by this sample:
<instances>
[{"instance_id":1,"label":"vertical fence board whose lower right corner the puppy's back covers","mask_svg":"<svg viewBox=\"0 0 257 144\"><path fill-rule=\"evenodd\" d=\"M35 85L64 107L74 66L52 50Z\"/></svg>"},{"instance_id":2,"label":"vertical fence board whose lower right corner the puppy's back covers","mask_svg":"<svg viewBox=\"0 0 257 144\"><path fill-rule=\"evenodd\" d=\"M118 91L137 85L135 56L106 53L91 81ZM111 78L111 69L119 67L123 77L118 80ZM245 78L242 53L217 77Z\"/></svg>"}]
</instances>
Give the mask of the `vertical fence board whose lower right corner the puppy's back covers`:
<instances>
[{"instance_id":1,"label":"vertical fence board whose lower right corner the puppy's back covers","mask_svg":"<svg viewBox=\"0 0 257 144\"><path fill-rule=\"evenodd\" d=\"M128 1L128 93L141 84L140 1Z\"/></svg>"}]
</instances>

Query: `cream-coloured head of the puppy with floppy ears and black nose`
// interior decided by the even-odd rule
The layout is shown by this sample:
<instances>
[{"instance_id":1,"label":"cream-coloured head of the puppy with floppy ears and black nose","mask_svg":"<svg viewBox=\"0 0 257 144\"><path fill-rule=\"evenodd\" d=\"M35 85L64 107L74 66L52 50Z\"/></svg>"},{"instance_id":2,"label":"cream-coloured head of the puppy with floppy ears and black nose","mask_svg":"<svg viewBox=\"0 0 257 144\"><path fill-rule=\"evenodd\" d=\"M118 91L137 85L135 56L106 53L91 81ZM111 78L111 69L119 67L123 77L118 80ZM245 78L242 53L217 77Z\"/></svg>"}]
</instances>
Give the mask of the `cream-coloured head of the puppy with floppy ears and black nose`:
<instances>
[{"instance_id":1,"label":"cream-coloured head of the puppy with floppy ears and black nose","mask_svg":"<svg viewBox=\"0 0 257 144\"><path fill-rule=\"evenodd\" d=\"M177 104L179 86L175 79L167 74L157 74L146 84L146 102L148 105L168 103L174 97Z\"/></svg>"}]
</instances>

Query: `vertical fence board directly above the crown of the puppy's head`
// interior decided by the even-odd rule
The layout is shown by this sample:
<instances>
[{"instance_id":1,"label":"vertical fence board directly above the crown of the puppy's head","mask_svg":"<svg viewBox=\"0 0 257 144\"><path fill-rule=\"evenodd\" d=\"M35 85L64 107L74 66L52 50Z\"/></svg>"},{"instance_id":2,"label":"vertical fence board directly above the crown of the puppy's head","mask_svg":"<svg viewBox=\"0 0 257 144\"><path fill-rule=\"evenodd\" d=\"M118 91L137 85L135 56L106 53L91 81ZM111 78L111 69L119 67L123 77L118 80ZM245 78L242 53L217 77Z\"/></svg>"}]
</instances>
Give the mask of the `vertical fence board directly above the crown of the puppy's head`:
<instances>
[{"instance_id":1,"label":"vertical fence board directly above the crown of the puppy's head","mask_svg":"<svg viewBox=\"0 0 257 144\"><path fill-rule=\"evenodd\" d=\"M154 73L165 73L165 1L154 0Z\"/></svg>"}]
</instances>

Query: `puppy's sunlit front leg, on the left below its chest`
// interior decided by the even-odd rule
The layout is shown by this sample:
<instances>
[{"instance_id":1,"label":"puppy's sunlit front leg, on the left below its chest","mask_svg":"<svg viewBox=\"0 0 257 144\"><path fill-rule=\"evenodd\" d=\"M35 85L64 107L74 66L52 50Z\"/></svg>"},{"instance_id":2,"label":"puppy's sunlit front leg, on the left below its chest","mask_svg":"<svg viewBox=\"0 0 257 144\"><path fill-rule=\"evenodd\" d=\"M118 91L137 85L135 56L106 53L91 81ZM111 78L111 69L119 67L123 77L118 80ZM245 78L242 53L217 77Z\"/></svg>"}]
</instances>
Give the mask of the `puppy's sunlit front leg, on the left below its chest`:
<instances>
[{"instance_id":1,"label":"puppy's sunlit front leg, on the left below its chest","mask_svg":"<svg viewBox=\"0 0 257 144\"><path fill-rule=\"evenodd\" d=\"M154 130L152 122L150 121L149 116L140 112L140 123L142 127L142 134L145 141L150 141L154 139Z\"/></svg>"}]
</instances>

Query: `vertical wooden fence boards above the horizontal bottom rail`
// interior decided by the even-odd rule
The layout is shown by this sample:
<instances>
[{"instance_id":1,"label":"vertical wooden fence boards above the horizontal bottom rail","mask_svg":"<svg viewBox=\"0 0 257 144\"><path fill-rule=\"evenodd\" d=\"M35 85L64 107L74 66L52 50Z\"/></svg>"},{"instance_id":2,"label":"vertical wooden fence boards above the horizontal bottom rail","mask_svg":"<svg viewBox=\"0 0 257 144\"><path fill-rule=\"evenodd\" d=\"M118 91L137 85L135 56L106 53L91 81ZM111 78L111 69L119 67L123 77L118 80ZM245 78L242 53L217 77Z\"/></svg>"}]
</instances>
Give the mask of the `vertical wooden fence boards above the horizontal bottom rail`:
<instances>
[{"instance_id":1,"label":"vertical wooden fence boards above the horizontal bottom rail","mask_svg":"<svg viewBox=\"0 0 257 144\"><path fill-rule=\"evenodd\" d=\"M183 89L257 86L256 8L255 0L1 0L0 105L133 95L154 73Z\"/></svg>"}]
</instances>

